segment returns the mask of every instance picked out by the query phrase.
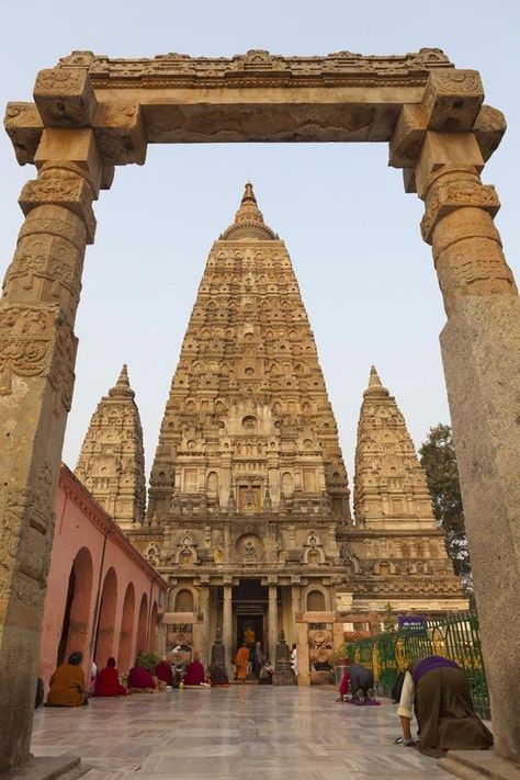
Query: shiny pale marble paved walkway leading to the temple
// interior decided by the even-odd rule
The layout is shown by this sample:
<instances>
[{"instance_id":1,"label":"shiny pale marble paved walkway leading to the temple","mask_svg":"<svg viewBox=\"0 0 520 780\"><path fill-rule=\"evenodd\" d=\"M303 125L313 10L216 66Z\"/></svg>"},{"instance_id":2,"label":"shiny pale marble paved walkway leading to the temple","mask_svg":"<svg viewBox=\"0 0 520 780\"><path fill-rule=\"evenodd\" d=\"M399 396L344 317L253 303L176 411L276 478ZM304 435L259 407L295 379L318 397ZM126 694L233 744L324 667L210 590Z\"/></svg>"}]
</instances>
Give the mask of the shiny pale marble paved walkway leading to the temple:
<instances>
[{"instance_id":1,"label":"shiny pale marble paved walkway leading to the temple","mask_svg":"<svg viewBox=\"0 0 520 780\"><path fill-rule=\"evenodd\" d=\"M80 755L86 780L448 780L394 745L395 705L335 702L331 687L233 686L91 699L35 714L36 756Z\"/></svg>"}]
</instances>

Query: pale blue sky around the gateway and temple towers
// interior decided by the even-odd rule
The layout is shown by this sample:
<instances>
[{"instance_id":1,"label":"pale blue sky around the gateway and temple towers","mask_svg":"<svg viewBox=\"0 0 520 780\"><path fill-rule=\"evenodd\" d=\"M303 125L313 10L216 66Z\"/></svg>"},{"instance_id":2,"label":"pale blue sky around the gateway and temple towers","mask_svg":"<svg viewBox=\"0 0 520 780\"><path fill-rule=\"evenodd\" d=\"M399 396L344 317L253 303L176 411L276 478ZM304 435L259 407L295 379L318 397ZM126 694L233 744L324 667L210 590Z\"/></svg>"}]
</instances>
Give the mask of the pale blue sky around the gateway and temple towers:
<instances>
[{"instance_id":1,"label":"pale blue sky around the gateway and temple towers","mask_svg":"<svg viewBox=\"0 0 520 780\"><path fill-rule=\"evenodd\" d=\"M520 279L518 218L520 3L517 0L0 0L1 102L32 100L36 72L72 49L110 57L178 52L233 56L405 54L442 48L481 71L486 102L508 132L484 171L502 208L496 224ZM147 472L180 344L212 242L229 225L247 179L265 222L286 242L315 334L352 486L355 428L371 363L396 396L418 446L449 421L439 349L445 323L422 203L387 167L385 144L149 146L144 167L118 168L94 204L76 332L77 380L64 460L75 467L100 397L128 363ZM32 167L0 135L2 275L22 223Z\"/></svg>"}]
</instances>

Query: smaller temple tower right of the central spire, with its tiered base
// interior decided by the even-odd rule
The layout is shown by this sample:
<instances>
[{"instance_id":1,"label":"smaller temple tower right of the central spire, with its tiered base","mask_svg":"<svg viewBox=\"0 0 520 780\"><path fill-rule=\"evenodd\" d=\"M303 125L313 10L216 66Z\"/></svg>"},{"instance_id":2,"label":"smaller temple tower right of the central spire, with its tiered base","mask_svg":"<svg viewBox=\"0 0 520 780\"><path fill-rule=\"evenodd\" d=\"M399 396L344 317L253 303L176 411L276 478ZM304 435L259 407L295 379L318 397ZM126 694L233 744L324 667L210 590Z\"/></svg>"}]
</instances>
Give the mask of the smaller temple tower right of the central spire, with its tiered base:
<instances>
[{"instance_id":1,"label":"smaller temple tower right of the central spire, with its tiered base","mask_svg":"<svg viewBox=\"0 0 520 780\"><path fill-rule=\"evenodd\" d=\"M358 426L354 518L340 547L354 610L466 606L405 419L374 366Z\"/></svg>"}]
</instances>

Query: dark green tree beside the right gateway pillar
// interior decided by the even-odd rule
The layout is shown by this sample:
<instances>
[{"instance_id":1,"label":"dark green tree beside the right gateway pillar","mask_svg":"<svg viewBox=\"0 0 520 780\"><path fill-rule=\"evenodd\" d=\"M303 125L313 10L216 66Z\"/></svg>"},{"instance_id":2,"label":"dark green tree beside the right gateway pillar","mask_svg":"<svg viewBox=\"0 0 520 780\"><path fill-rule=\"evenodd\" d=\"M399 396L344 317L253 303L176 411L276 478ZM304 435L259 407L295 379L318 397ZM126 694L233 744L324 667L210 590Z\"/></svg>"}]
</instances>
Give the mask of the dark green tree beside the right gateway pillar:
<instances>
[{"instance_id":1,"label":"dark green tree beside the right gateway pillar","mask_svg":"<svg viewBox=\"0 0 520 780\"><path fill-rule=\"evenodd\" d=\"M419 448L419 455L431 493L434 518L445 533L448 554L465 589L473 591L461 485L451 427L441 422L430 428L428 439Z\"/></svg>"}]
</instances>

